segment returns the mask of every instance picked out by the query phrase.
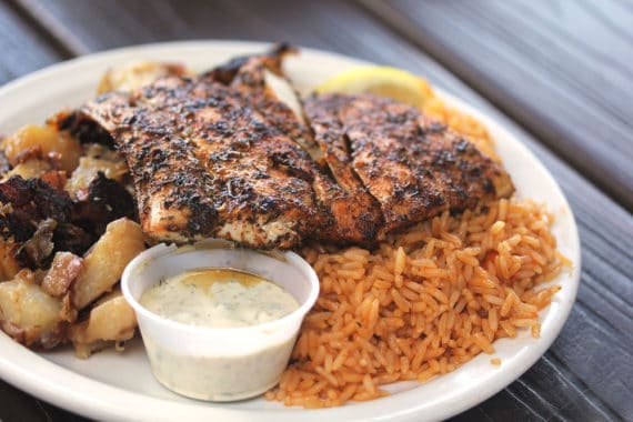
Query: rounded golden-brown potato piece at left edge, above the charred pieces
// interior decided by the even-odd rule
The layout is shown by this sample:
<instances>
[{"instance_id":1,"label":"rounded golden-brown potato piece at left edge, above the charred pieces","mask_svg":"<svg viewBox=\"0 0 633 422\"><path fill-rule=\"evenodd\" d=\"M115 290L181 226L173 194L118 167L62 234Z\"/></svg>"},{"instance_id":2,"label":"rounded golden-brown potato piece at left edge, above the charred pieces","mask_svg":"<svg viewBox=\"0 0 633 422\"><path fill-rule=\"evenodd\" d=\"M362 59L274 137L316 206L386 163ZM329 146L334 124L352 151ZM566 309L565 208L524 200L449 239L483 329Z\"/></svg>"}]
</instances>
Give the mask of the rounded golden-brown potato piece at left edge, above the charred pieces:
<instances>
[{"instance_id":1,"label":"rounded golden-brown potato piece at left edge, above the charred pieces","mask_svg":"<svg viewBox=\"0 0 633 422\"><path fill-rule=\"evenodd\" d=\"M59 153L62 170L72 171L79 164L81 144L68 132L60 132L50 125L29 124L2 140L11 165L19 164L20 155L28 151L40 150L42 158L49 153Z\"/></svg>"}]
</instances>

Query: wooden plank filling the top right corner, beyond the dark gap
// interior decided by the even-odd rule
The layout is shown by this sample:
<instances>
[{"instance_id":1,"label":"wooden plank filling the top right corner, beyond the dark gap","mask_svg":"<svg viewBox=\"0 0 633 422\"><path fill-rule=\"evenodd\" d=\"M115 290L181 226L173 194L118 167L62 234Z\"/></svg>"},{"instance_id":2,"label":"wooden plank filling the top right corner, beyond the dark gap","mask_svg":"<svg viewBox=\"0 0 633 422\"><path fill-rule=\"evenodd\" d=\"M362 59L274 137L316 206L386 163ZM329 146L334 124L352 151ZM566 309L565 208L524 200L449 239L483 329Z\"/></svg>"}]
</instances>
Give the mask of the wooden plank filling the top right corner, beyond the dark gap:
<instances>
[{"instance_id":1,"label":"wooden plank filling the top right corner, beyond the dark gap","mask_svg":"<svg viewBox=\"0 0 633 422\"><path fill-rule=\"evenodd\" d=\"M363 4L633 210L633 10L625 1Z\"/></svg>"}]
</instances>

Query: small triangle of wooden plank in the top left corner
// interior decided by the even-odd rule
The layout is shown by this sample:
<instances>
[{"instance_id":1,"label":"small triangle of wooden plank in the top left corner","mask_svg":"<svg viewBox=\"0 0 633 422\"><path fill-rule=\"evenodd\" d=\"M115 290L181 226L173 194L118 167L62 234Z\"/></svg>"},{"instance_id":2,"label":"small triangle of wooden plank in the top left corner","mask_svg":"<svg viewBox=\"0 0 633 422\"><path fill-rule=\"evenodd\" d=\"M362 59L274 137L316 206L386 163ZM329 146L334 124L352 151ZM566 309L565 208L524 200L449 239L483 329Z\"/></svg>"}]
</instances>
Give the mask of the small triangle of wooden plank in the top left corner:
<instances>
[{"instance_id":1,"label":"small triangle of wooden plank in the top left corner","mask_svg":"<svg viewBox=\"0 0 633 422\"><path fill-rule=\"evenodd\" d=\"M66 58L3 2L0 2L0 84Z\"/></svg>"}]
</instances>

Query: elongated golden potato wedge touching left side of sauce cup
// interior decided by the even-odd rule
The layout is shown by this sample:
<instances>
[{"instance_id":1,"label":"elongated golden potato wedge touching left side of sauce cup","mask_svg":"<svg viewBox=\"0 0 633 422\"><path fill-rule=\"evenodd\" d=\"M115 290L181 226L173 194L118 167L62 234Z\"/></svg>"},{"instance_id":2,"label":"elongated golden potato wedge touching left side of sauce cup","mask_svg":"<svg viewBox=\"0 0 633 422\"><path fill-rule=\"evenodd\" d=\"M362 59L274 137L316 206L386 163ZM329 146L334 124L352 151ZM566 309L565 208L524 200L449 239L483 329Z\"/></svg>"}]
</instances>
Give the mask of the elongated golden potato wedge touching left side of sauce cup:
<instances>
[{"instance_id":1,"label":"elongated golden potato wedge touching left side of sauce cup","mask_svg":"<svg viewBox=\"0 0 633 422\"><path fill-rule=\"evenodd\" d=\"M81 310L119 281L123 269L145 249L141 227L129 219L108 224L105 233L83 259L83 268L72 284L72 303Z\"/></svg>"}]
</instances>

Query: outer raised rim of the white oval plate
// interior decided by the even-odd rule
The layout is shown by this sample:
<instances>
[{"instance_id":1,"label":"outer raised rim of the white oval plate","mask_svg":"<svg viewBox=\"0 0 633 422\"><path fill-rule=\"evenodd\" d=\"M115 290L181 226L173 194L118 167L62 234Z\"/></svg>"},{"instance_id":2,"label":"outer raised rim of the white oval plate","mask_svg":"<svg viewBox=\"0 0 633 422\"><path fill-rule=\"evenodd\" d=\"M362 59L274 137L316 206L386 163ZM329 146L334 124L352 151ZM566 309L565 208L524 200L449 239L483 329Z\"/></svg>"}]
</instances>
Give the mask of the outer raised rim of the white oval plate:
<instances>
[{"instance_id":1,"label":"outer raised rim of the white oval plate","mask_svg":"<svg viewBox=\"0 0 633 422\"><path fill-rule=\"evenodd\" d=\"M58 73L63 73L72 70L76 67L90 67L98 66L101 61L108 58L129 54L131 52L151 51L160 49L213 49L218 46L224 48L235 48L238 50L247 49L252 51L263 50L270 47L272 43L269 42L257 42L257 41L239 41L239 40L191 40L191 41L173 41L173 42L155 42L145 43L138 46L129 46L123 48L117 48L111 50L105 50L84 57L62 61L54 63L52 66L46 67L43 69L37 70L32 73L18 78L0 88L0 102L4 96L8 96L11 91L20 90L23 87L33 84L39 80L54 77ZM329 57L332 60L343 60L346 62L356 62L358 64L371 64L371 62L356 59L353 57L344 56L336 52L330 52L325 50L316 50L311 48L299 47L302 52L321 56L323 58ZM169 60L169 58L168 58ZM96 81L97 82L97 81ZM537 171L546 177L546 182L552 184L555 193L562 200L562 203L569 210L571 218L572 230L572 243L577 245L575 248L574 257L570 257L574 262L571 277L566 281L565 291L567 300L562 303L563 309L561 309L561 318L554 320L554 324L551 329L552 334L547 339L539 339L537 342L530 346L531 355L528 361L519 365L520 368L505 369L505 373L510 371L506 376L493 378L494 383L485 385L484 389L480 390L480 393L471 398L470 400L462 400L456 405L452 406L449 411L436 412L428 415L430 419L444 419L455 415L466 409L470 409L484 400L489 399L493 394L503 390L506 385L514 382L519 376L521 376L525 371L528 371L551 346L553 341L560 334L564 323L569 319L573 303L575 302L577 288L580 285L580 274L581 274L581 244L579 239L577 225L571 207L569 205L567 199L562 192L559 183L545 168L545 165L539 160L539 158L523 143L521 140L510 132L505 127L498 122L495 119L489 117L484 112L481 112L476 108L470 105L468 102L459 99L445 92L442 89L433 87L433 89L442 97L448 100L448 103L455 107L459 110L463 110L471 115L473 115L479 121L482 121L488 128L494 129L494 132L501 134L503 138L512 140L515 144L514 147L521 149L521 153L525 154L533 161L534 165L537 167ZM113 386L105 382L97 381L88 375L80 374L70 369L58 365L44 359L42 355L13 342L6 334L0 335L0 350L3 352L0 354L0 376L4 381L11 383L20 390L23 390L32 395L36 395L44 401L48 401L54 405L67 409L71 412L76 412L89 418L96 419L128 419L128 420L144 420L148 418L157 420L155 409L163 409L160 418L169 419L169 414L179 414L179 416L185 416L188 419L197 419L201 416L200 404L201 402L177 402L169 399L160 399L150 395L145 395L139 392L125 390L123 388ZM16 363L16 360L19 363ZM23 360L28 361L28 365L24 365ZM491 369L492 371L493 369ZM64 382L60 385L60 380L56 376L64 375ZM81 391L78 393L73 385L76 383L81 383ZM409 392L405 392L409 393ZM403 393L399 393L403 394ZM144 405L139 406L138 404L142 402ZM402 409L398 412L390 414L380 414L380 412L360 412L361 414L354 415L354 410L365 409L381 409L381 400L364 402L362 404L345 405L342 408L331 408L321 410L303 410L298 408L280 408L265 410L265 412L271 413L273 420L279 420L281 416L290 414L290 420L299 416L298 412L309 416L310 420L320 420L326 418L328 415L338 414L339 418L351 419L345 420L369 420L372 421L386 421L386 420L418 420L420 416L421 406L411 406ZM112 405L115 403L115 405ZM366 404L370 403L370 404ZM373 405L371 404L373 403ZM141 408L139 411L138 409ZM204 413L207 416L213 415L217 418L222 418L221 420L250 420L252 416L262 412L262 410L257 409L235 409L235 408L204 408ZM168 411L174 413L168 413ZM352 413L352 414L350 414ZM262 414L258 414L261 416Z\"/></svg>"}]
</instances>

